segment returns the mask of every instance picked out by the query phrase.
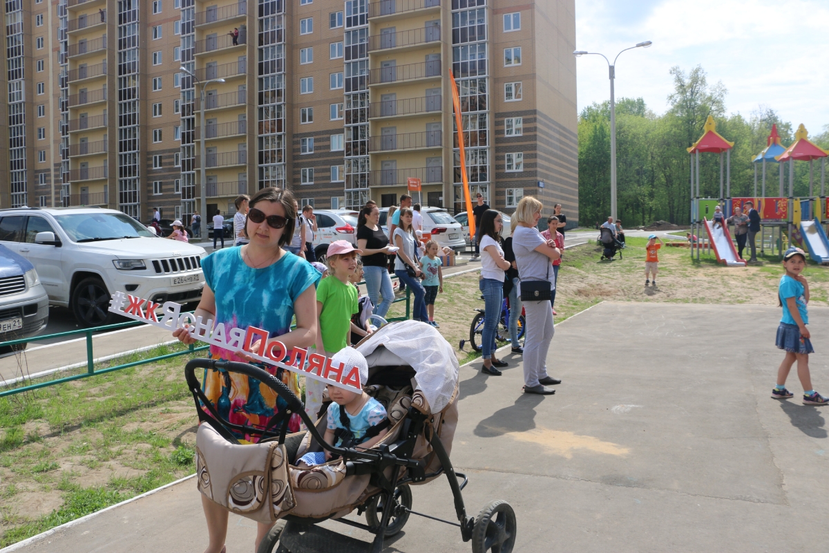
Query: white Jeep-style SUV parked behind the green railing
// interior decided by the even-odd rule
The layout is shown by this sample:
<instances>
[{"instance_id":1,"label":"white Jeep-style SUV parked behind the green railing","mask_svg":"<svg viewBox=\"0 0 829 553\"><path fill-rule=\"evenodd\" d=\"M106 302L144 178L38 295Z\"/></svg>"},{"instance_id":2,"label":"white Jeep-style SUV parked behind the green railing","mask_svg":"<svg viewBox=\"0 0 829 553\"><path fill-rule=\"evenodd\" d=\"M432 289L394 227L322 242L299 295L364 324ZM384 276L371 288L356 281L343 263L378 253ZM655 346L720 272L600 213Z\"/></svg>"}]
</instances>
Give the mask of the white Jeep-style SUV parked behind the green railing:
<instances>
[{"instance_id":1,"label":"white Jeep-style SUV parked behind the green railing","mask_svg":"<svg viewBox=\"0 0 829 553\"><path fill-rule=\"evenodd\" d=\"M114 322L108 309L116 291L155 303L191 303L204 286L204 248L158 238L121 211L0 210L0 244L29 260L49 303L71 308L85 327Z\"/></svg>"}]
</instances>

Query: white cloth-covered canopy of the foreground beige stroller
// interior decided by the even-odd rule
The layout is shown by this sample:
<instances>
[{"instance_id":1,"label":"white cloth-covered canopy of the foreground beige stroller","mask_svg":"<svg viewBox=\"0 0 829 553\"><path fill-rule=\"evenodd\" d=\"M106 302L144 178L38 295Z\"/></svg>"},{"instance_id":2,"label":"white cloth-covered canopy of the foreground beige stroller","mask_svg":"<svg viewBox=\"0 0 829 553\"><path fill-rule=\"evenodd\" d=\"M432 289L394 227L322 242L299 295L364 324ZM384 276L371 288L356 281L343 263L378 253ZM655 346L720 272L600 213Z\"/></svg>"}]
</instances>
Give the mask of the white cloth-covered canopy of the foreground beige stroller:
<instances>
[{"instance_id":1,"label":"white cloth-covered canopy of the foreground beige stroller","mask_svg":"<svg viewBox=\"0 0 829 553\"><path fill-rule=\"evenodd\" d=\"M382 327L356 347L368 366L405 365L414 369L417 390L433 413L444 410L458 386L458 358L440 332L426 323L400 321Z\"/></svg>"}]
</instances>

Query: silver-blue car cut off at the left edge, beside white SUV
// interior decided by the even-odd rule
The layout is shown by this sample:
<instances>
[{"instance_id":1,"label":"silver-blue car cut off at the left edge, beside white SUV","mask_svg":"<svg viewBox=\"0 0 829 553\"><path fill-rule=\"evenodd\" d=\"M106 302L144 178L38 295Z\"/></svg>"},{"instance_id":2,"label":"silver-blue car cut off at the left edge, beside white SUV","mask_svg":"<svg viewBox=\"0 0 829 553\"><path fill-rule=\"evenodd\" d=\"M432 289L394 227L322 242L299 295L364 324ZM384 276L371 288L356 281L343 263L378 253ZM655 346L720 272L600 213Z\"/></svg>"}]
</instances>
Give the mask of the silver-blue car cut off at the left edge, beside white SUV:
<instances>
[{"instance_id":1,"label":"silver-blue car cut off at the left edge, beside white SUV","mask_svg":"<svg viewBox=\"0 0 829 553\"><path fill-rule=\"evenodd\" d=\"M35 266L0 245L0 342L34 336L49 322L49 296ZM26 343L0 346L0 353L26 349Z\"/></svg>"}]
</instances>

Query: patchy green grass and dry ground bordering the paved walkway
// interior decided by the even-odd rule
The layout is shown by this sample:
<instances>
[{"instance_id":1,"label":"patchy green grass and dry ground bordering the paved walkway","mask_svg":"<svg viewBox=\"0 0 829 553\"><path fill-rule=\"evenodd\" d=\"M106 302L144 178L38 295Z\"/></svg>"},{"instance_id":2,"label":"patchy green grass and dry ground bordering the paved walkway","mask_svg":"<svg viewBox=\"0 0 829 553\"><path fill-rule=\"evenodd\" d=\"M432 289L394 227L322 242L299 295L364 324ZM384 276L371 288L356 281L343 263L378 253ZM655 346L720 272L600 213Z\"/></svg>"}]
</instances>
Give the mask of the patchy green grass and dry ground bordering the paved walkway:
<instances>
[{"instance_id":1,"label":"patchy green grass and dry ground bordering the paved walkway","mask_svg":"<svg viewBox=\"0 0 829 553\"><path fill-rule=\"evenodd\" d=\"M594 242L565 252L555 309L560 323L603 300L777 304L783 274L777 259L734 268L690 250L659 252L656 287L644 285L644 238L628 238L623 259L600 261ZM812 303L829 303L829 269L805 273ZM444 279L435 318L468 361L469 325L482 308L478 273ZM405 313L395 303L390 316ZM176 351L152 352L104 366ZM198 355L198 354L196 354ZM0 546L7 546L193 472L196 411L182 368L188 357L138 366L0 399Z\"/></svg>"}]
</instances>

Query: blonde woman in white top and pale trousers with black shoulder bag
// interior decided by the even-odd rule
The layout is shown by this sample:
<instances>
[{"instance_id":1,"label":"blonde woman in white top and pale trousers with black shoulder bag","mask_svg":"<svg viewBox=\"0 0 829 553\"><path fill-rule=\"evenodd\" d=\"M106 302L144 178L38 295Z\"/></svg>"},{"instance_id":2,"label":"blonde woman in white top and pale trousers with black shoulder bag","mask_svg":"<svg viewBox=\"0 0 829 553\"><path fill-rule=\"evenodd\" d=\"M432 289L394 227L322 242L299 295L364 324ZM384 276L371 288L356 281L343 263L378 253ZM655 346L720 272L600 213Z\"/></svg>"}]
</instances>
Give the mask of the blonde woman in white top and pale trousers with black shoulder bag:
<instances>
[{"instance_id":1,"label":"blonde woman in white top and pale trousers with black shoulder bag","mask_svg":"<svg viewBox=\"0 0 829 553\"><path fill-rule=\"evenodd\" d=\"M532 196L524 196L518 202L516 212L510 221L512 228L512 251L516 256L518 274L521 275L521 288L527 281L550 281L555 288L555 273L552 262L561 257L561 251L555 247L555 240L545 240L536 226L541 219L541 201ZM553 339L553 310L550 300L531 301L522 295L526 313L526 338L524 340L524 393L555 394L547 386L560 384L547 375L547 351Z\"/></svg>"}]
</instances>

